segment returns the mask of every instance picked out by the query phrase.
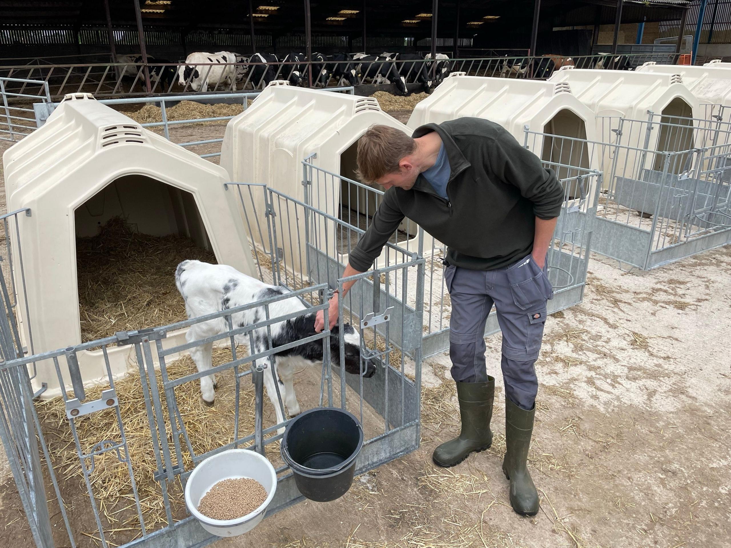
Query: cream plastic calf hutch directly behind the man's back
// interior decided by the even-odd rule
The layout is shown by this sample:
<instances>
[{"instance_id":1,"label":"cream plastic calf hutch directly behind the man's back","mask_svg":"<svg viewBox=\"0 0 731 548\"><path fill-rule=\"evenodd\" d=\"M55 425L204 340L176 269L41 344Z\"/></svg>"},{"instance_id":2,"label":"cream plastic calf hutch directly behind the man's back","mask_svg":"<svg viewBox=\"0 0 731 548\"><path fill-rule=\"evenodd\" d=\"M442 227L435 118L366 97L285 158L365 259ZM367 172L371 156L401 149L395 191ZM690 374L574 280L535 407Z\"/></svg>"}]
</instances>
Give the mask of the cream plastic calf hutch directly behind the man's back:
<instances>
[{"instance_id":1,"label":"cream plastic calf hutch directly behind the man's back","mask_svg":"<svg viewBox=\"0 0 731 548\"><path fill-rule=\"evenodd\" d=\"M532 150L545 161L591 169L598 167L586 143L567 146L550 135L596 141L594 113L569 85L541 80L515 80L452 73L431 96L419 102L407 124L442 123L472 116L499 123L522 145L526 128L547 136ZM561 146L563 144L563 146ZM559 177L564 175L559 171Z\"/></svg>"}]
</instances>

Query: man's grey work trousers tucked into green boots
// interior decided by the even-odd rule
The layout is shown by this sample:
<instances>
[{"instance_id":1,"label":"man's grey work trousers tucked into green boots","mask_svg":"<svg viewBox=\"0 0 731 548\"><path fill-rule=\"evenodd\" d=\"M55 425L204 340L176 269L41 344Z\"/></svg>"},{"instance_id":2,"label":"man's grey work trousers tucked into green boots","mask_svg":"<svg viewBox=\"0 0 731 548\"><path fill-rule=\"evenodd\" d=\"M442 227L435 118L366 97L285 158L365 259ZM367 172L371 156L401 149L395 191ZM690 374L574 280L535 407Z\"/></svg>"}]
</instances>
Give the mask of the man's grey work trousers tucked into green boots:
<instances>
[{"instance_id":1,"label":"man's grey work trousers tucked into green boots","mask_svg":"<svg viewBox=\"0 0 731 548\"><path fill-rule=\"evenodd\" d=\"M444 281L452 300L450 358L452 378L485 382L485 321L493 308L503 334L505 395L520 408L533 408L538 392L535 362L541 349L546 301L553 287L532 256L497 270L450 265Z\"/></svg>"}]
</instances>

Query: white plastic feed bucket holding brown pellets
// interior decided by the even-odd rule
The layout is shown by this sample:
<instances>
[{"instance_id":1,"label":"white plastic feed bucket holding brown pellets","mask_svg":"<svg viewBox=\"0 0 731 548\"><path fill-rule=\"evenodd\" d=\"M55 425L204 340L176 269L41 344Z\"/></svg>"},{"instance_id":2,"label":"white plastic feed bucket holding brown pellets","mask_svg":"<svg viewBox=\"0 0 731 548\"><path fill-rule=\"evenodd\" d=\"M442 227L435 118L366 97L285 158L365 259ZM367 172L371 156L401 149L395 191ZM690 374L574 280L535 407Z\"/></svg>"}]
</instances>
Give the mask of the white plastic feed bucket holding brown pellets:
<instances>
[{"instance_id":1,"label":"white plastic feed bucket holding brown pellets","mask_svg":"<svg viewBox=\"0 0 731 548\"><path fill-rule=\"evenodd\" d=\"M268 496L262 505L246 516L235 520L213 520L198 511L200 499L213 485L223 479L251 478L262 484ZM185 486L188 511L197 518L202 528L218 536L236 536L259 525L276 492L276 471L259 453L249 449L229 449L208 457L197 465Z\"/></svg>"}]
</instances>

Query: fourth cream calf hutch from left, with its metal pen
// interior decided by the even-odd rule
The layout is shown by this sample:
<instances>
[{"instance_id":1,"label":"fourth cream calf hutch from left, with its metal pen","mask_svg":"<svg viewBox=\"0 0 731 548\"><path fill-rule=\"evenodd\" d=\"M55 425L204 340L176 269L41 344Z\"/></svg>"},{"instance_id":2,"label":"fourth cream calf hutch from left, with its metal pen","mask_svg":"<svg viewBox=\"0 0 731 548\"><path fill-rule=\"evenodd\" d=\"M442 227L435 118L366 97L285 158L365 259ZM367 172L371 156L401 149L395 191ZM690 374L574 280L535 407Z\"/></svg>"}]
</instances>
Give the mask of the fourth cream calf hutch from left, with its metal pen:
<instances>
[{"instance_id":1,"label":"fourth cream calf hutch from left, with its metal pen","mask_svg":"<svg viewBox=\"0 0 731 548\"><path fill-rule=\"evenodd\" d=\"M592 249L649 269L719 245L726 237L727 187L697 164L705 109L677 72L562 68L548 79L571 85L597 115L604 188ZM700 136L700 137L697 137ZM718 175L712 175L713 179ZM703 179L703 180L701 180ZM719 201L720 200L720 201ZM713 225L713 226L712 226ZM707 233L708 232L708 233Z\"/></svg>"}]
</instances>

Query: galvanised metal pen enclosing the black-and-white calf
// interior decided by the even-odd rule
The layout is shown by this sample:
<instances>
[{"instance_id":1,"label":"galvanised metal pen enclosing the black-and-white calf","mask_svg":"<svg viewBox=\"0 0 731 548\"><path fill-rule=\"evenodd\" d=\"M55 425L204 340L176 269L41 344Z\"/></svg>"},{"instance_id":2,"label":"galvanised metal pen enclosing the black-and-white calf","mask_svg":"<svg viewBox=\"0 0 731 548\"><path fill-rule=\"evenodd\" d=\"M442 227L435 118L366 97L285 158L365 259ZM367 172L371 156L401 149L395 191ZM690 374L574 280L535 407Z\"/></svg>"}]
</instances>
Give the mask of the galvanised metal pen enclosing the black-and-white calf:
<instances>
[{"instance_id":1,"label":"galvanised metal pen enclosing the black-and-white calf","mask_svg":"<svg viewBox=\"0 0 731 548\"><path fill-rule=\"evenodd\" d=\"M270 419L263 385L265 375L273 375L266 366L268 357L303 343L323 340L324 359L322 368L300 373L300 403L303 408L338 406L359 417L366 443L357 460L358 473L419 446L420 337L409 326L421 325L422 307L420 300L406 307L395 295L412 291L407 270L416 272L415 290L420 292L425 260L390 246L401 259L358 275L359 283L340 302L339 327L342 330L344 321L360 327L361 371L374 365L372 377L345 372L342 346L341 365L333 367L327 330L273 348L270 326L321 310L327 322L327 297L333 289L342 293L347 281L337 269L330 270L331 283L303 278L289 260L294 246L317 248L315 242L327 237L323 228L329 224L343 230L350 227L262 185L230 183L227 189L240 204L251 240L264 242L254 250L260 277L292 292L167 326L117 332L33 354L23 349L13 295L17 283L32 273L12 265L8 270L14 281L8 284L6 273L0 271L4 305L0 437L38 547L192 547L216 540L186 513L182 493L194 465L232 447L250 447L275 465L279 483L268 515L300 501L294 478L279 458L279 430L287 420ZM17 230L15 216L22 213L6 217L6 234ZM306 229L292 222L298 218L306 219ZM7 257L12 256L9 251L6 247ZM272 317L270 305L292 297L302 300L306 310ZM265 319L250 326L233 323L232 314L254 306L264 308ZM227 324L219 335L184 344L167 338L170 332L217 318ZM252 348L254 330L260 328L268 331L265 351L249 355L244 346L237 346L248 343ZM198 372L185 356L204 345L213 345L216 357L213 368ZM112 374L107 349L113 346L134 349L135 360L125 378ZM100 349L105 357L106 374L101 383L97 381L99 386L88 385L80 374L77 354L89 349ZM64 387L61 400L34 400L29 370L40 362L50 362L50 370L56 372ZM219 382L212 410L202 406L197 382L210 374ZM34 384L41 381L36 378ZM277 406L286 417L279 383L273 385ZM67 510L71 507L73 512Z\"/></svg>"}]
</instances>

